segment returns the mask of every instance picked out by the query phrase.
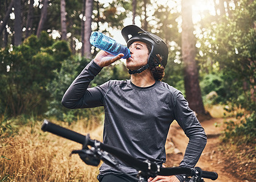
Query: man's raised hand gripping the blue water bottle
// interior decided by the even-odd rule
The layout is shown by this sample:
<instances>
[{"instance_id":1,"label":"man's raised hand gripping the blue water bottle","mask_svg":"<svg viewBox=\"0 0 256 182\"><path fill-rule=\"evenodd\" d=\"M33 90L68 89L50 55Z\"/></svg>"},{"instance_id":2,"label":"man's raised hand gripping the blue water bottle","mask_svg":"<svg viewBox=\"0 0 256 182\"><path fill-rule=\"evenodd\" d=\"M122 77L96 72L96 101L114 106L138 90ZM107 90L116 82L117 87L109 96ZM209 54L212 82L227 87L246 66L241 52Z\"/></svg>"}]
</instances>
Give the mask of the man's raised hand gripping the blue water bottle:
<instances>
[{"instance_id":1,"label":"man's raised hand gripping the blue water bottle","mask_svg":"<svg viewBox=\"0 0 256 182\"><path fill-rule=\"evenodd\" d=\"M94 62L98 64L100 67L109 66L113 62L121 59L123 57L123 53L120 53L117 56L111 55L108 52L105 52L104 50L100 50L99 53L94 58Z\"/></svg>"}]
</instances>

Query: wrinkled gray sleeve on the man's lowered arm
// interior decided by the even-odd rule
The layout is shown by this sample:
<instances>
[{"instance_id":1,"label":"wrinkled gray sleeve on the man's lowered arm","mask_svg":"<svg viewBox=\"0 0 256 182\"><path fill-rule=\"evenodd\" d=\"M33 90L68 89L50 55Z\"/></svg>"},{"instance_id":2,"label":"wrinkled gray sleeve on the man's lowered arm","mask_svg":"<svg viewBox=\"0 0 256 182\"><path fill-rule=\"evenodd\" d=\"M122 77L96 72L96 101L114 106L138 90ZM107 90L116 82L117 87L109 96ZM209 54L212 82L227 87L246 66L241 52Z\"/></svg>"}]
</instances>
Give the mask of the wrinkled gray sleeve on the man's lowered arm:
<instances>
[{"instance_id":1,"label":"wrinkled gray sleeve on the man's lowered arm","mask_svg":"<svg viewBox=\"0 0 256 182\"><path fill-rule=\"evenodd\" d=\"M178 93L176 99L175 118L179 126L184 130L185 135L189 138L189 143L180 166L195 167L202 150L206 146L207 137L195 113L189 108L189 103L181 92Z\"/></svg>"}]
</instances>

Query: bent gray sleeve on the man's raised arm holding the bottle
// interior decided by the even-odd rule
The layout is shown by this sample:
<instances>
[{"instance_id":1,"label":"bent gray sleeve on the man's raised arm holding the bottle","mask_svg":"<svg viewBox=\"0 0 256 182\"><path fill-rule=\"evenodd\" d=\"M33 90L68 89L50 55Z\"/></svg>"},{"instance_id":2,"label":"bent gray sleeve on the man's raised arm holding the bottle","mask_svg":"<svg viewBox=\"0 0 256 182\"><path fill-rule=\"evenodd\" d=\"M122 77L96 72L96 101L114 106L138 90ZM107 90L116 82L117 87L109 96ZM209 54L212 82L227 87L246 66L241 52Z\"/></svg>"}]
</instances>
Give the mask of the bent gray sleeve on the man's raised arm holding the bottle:
<instances>
[{"instance_id":1,"label":"bent gray sleeve on the man's raised arm holding the bottle","mask_svg":"<svg viewBox=\"0 0 256 182\"><path fill-rule=\"evenodd\" d=\"M103 96L97 88L88 88L90 82L102 70L94 61L83 69L66 90L61 103L69 109L103 106Z\"/></svg>"}]
</instances>

